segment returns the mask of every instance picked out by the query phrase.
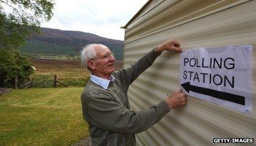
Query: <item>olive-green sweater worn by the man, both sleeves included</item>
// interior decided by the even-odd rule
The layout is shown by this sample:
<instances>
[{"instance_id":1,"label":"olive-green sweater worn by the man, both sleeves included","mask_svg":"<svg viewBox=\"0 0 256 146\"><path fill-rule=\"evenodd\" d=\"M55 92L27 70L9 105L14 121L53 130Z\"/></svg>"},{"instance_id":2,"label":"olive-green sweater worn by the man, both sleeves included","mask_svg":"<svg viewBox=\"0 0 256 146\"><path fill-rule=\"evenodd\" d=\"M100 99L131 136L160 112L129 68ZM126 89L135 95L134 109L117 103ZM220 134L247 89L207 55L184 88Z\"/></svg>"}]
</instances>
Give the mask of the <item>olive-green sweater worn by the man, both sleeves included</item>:
<instances>
[{"instance_id":1,"label":"olive-green sweater worn by the man, both sleeves included","mask_svg":"<svg viewBox=\"0 0 256 146\"><path fill-rule=\"evenodd\" d=\"M89 124L92 145L136 145L135 133L143 132L158 122L170 109L162 101L147 110L130 110L129 85L155 61L155 49L134 65L112 73L115 80L107 89L91 80L81 95L83 118Z\"/></svg>"}]
</instances>

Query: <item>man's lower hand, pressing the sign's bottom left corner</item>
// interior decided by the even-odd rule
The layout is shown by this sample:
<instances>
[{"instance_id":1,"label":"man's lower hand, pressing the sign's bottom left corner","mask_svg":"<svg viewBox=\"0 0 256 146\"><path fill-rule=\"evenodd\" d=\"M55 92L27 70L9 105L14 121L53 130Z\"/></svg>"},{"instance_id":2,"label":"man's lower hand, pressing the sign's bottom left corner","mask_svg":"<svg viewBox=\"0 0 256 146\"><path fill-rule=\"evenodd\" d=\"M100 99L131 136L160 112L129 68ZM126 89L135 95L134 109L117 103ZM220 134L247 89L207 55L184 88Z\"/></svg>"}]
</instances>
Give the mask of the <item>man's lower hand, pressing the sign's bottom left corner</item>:
<instances>
[{"instance_id":1,"label":"man's lower hand, pressing the sign's bottom left corner","mask_svg":"<svg viewBox=\"0 0 256 146\"><path fill-rule=\"evenodd\" d=\"M165 102L169 106L170 109L176 109L178 107L185 106L187 103L187 95L185 95L181 89L176 90L173 94L171 94Z\"/></svg>"}]
</instances>

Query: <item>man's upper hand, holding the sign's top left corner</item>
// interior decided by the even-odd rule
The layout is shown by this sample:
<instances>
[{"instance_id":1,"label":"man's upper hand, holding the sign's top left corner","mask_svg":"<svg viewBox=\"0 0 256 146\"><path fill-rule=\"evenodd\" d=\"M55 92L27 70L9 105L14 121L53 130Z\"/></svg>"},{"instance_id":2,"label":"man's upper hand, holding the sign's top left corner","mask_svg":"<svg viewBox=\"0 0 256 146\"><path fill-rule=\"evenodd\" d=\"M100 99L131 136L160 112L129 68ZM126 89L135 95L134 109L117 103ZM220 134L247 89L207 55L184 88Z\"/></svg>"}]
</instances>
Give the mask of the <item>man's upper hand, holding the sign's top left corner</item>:
<instances>
[{"instance_id":1,"label":"man's upper hand, holding the sign's top left corner","mask_svg":"<svg viewBox=\"0 0 256 146\"><path fill-rule=\"evenodd\" d=\"M166 42L159 45L158 48L156 48L156 51L158 51L160 53L164 50L182 52L181 44L173 39L167 40Z\"/></svg>"}]
</instances>

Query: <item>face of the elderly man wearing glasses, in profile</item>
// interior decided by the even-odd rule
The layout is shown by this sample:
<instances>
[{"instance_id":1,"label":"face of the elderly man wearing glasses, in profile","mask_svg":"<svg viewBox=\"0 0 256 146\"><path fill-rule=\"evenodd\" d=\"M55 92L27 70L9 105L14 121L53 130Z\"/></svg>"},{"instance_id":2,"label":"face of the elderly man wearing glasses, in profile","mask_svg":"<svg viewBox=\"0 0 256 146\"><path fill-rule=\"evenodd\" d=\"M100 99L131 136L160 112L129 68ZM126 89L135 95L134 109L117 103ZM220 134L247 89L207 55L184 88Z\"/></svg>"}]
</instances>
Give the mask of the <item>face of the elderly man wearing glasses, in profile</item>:
<instances>
[{"instance_id":1,"label":"face of the elderly man wearing glasses, in profile","mask_svg":"<svg viewBox=\"0 0 256 146\"><path fill-rule=\"evenodd\" d=\"M92 59L94 64L92 73L102 78L110 77L110 74L115 71L115 57L110 49L103 45L96 45L95 51L97 58Z\"/></svg>"}]
</instances>

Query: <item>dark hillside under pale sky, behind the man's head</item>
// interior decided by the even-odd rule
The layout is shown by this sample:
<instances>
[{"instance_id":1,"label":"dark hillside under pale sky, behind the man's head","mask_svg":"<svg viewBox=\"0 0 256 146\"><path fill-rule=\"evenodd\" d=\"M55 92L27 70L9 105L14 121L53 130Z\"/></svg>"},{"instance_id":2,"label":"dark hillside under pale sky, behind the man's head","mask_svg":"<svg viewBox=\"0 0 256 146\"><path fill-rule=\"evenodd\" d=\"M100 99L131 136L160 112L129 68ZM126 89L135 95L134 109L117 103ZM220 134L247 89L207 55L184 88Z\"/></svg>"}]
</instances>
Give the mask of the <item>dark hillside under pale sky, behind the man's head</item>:
<instances>
[{"instance_id":1,"label":"dark hillside under pale sky, behind the man's head","mask_svg":"<svg viewBox=\"0 0 256 146\"><path fill-rule=\"evenodd\" d=\"M114 52L117 60L123 59L124 42L107 39L81 31L63 31L51 28L41 28L40 35L27 39L21 48L23 54L53 54L74 56L80 54L83 46L88 43L102 43Z\"/></svg>"}]
</instances>

